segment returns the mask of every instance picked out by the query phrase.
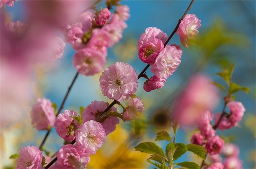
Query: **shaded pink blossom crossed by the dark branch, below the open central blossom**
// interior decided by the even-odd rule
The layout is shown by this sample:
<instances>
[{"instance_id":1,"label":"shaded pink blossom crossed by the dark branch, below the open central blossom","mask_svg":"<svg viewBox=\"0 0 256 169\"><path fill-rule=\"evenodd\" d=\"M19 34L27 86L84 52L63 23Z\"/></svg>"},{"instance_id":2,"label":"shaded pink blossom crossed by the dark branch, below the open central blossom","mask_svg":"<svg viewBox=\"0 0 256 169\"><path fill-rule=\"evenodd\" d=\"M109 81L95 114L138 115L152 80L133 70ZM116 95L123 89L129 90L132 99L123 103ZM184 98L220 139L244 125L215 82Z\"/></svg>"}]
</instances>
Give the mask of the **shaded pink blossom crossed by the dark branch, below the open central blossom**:
<instances>
[{"instance_id":1,"label":"shaded pink blossom crossed by the dark branch, below the open central blossom","mask_svg":"<svg viewBox=\"0 0 256 169\"><path fill-rule=\"evenodd\" d=\"M95 120L106 108L107 102L91 102L91 104L89 104L82 113L83 123L89 120ZM110 111L117 113L117 108L112 107L110 108ZM119 118L117 118L116 116L109 116L102 118L99 122L105 129L106 135L108 135L109 133L115 131L116 125L119 124Z\"/></svg>"}]
</instances>

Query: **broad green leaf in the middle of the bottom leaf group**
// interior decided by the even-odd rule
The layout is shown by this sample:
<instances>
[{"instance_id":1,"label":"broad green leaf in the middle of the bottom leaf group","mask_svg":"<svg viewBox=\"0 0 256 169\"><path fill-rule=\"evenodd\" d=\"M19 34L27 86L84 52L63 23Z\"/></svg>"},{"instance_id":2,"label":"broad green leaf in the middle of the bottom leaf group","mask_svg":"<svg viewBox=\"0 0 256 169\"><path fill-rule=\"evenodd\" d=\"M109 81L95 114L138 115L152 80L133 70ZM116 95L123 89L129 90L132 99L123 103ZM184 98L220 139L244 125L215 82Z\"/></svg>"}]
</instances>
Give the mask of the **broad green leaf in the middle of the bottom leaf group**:
<instances>
[{"instance_id":1,"label":"broad green leaf in the middle of the bottom leaf group","mask_svg":"<svg viewBox=\"0 0 256 169\"><path fill-rule=\"evenodd\" d=\"M175 149L175 148L176 148L176 151L174 152L174 155L173 155L174 161L179 157L181 157L182 154L187 152L187 145L183 143L169 143L166 146L165 152L169 152L171 149Z\"/></svg>"}]
</instances>

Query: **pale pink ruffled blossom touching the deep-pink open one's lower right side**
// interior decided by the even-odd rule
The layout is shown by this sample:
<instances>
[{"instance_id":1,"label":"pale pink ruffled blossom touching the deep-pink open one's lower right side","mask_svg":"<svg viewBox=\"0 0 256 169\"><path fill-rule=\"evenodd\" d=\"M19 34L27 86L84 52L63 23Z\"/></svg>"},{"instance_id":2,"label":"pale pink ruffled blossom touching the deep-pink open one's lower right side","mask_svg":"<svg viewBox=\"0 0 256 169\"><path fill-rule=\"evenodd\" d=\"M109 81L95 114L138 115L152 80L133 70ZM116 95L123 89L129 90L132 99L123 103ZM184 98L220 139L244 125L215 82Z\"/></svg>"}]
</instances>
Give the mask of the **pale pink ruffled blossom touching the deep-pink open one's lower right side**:
<instances>
[{"instance_id":1,"label":"pale pink ruffled blossom touching the deep-pink open one's lower right side","mask_svg":"<svg viewBox=\"0 0 256 169\"><path fill-rule=\"evenodd\" d=\"M180 52L175 46L166 46L151 65L150 71L158 78L167 79L173 74L181 63Z\"/></svg>"}]
</instances>

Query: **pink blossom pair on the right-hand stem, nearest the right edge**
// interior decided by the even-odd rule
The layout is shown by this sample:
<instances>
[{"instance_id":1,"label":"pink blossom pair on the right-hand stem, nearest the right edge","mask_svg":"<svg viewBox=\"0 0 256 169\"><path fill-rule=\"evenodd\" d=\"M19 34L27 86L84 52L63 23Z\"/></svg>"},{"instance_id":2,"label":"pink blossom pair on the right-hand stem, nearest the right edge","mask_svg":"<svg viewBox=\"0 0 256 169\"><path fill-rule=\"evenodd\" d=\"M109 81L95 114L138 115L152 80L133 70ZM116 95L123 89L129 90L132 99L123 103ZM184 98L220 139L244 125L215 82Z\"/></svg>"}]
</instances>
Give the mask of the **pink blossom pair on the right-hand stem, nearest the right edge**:
<instances>
[{"instance_id":1,"label":"pink blossom pair on the right-hand stem, nearest the right edge","mask_svg":"<svg viewBox=\"0 0 256 169\"><path fill-rule=\"evenodd\" d=\"M229 102L227 104L227 107L229 108L230 112L229 114L225 114L225 116L221 118L220 123L218 125L218 128L220 130L238 126L238 123L242 120L242 117L244 116L245 113L245 107L241 102ZM215 123L218 123L220 116L220 113L216 114L214 118Z\"/></svg>"}]
</instances>

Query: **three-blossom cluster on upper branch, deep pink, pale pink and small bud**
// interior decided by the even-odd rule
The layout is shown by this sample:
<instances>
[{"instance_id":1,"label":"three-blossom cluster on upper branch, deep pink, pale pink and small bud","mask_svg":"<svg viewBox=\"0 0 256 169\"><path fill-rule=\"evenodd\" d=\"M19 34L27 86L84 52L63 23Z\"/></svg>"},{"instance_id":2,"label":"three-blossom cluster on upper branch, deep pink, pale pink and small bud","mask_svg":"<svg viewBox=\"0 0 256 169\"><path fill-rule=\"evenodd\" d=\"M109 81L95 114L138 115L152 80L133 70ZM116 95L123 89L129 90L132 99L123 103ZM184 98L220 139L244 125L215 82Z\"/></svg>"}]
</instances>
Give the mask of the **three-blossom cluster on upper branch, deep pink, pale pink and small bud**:
<instances>
[{"instance_id":1,"label":"three-blossom cluster on upper branch, deep pink, pale pink and small bud","mask_svg":"<svg viewBox=\"0 0 256 169\"><path fill-rule=\"evenodd\" d=\"M144 82L146 92L163 87L165 79L170 77L181 63L181 48L175 44L164 46L167 38L163 31L155 27L147 28L139 38L139 59L151 65L150 71L155 74Z\"/></svg>"}]
</instances>

